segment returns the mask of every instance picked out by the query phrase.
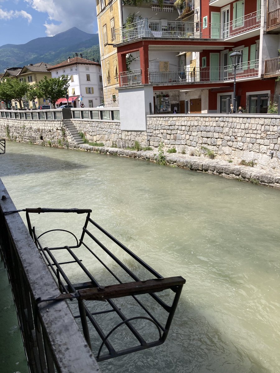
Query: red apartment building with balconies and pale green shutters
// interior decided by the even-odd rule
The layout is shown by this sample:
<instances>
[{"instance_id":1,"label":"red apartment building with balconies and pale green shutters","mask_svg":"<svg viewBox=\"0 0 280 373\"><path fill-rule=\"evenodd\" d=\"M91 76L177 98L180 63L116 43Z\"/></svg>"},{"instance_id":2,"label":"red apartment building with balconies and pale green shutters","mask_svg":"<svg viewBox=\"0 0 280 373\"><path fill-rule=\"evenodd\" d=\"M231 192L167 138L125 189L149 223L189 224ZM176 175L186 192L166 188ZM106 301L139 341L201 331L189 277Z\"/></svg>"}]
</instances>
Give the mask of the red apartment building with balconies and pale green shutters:
<instances>
[{"instance_id":1,"label":"red apartment building with balconies and pale green shutters","mask_svg":"<svg viewBox=\"0 0 280 373\"><path fill-rule=\"evenodd\" d=\"M227 98L233 101L233 51L242 53L237 105L266 113L270 102L278 102L279 1L123 0L119 19L124 25L111 30L111 45L121 118L128 102L136 117L149 114L149 103L152 113L170 113L174 106L182 113L185 100L190 113L225 113Z\"/></svg>"}]
</instances>

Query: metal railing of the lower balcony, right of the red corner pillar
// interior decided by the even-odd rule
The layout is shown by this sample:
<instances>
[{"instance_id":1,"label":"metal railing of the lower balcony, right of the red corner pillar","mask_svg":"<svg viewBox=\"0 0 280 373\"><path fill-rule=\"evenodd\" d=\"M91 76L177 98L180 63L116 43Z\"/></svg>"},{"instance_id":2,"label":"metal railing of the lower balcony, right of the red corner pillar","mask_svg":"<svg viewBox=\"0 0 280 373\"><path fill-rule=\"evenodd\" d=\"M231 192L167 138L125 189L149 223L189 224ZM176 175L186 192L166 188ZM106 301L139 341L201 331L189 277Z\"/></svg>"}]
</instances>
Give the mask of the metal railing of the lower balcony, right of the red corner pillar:
<instances>
[{"instance_id":1,"label":"metal railing of the lower balcony, right of the red corner pillar","mask_svg":"<svg viewBox=\"0 0 280 373\"><path fill-rule=\"evenodd\" d=\"M236 69L236 79L258 76L259 60L240 63ZM184 71L170 69L170 71L158 71L149 69L149 84L170 84L170 83L195 83L195 82L216 82L234 79L232 65L223 68L186 68Z\"/></svg>"}]
</instances>

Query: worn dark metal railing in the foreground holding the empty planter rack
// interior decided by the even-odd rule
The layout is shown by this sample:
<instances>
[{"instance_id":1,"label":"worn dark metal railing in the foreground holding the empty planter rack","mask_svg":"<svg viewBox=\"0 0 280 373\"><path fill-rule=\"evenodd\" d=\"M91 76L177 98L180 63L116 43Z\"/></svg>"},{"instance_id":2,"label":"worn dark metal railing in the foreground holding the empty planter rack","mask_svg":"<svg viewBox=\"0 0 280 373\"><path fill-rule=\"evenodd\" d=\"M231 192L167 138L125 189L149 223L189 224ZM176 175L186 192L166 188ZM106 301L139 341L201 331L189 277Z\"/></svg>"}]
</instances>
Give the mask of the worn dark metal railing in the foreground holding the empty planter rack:
<instances>
[{"instance_id":1,"label":"worn dark metal railing in the foreground holding the empty planter rack","mask_svg":"<svg viewBox=\"0 0 280 373\"><path fill-rule=\"evenodd\" d=\"M38 302L57 297L59 288L1 180L0 193L0 252L30 373L100 372L65 301Z\"/></svg>"}]
</instances>

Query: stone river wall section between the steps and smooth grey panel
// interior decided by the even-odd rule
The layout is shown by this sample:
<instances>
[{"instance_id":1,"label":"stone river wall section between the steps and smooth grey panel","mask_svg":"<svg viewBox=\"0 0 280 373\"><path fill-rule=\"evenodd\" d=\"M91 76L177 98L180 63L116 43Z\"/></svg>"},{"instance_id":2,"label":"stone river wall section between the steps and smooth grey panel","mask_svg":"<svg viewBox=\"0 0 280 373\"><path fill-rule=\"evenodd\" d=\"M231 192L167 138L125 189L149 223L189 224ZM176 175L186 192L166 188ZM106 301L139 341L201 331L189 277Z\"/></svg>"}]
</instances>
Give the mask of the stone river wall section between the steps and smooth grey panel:
<instances>
[{"instance_id":1,"label":"stone river wall section between the steps and smooth grey panel","mask_svg":"<svg viewBox=\"0 0 280 373\"><path fill-rule=\"evenodd\" d=\"M90 142L103 142L105 146L125 148L133 146L137 140L143 147L147 146L146 131L122 131L120 122L74 119L72 123L78 131L84 132Z\"/></svg>"}]
</instances>

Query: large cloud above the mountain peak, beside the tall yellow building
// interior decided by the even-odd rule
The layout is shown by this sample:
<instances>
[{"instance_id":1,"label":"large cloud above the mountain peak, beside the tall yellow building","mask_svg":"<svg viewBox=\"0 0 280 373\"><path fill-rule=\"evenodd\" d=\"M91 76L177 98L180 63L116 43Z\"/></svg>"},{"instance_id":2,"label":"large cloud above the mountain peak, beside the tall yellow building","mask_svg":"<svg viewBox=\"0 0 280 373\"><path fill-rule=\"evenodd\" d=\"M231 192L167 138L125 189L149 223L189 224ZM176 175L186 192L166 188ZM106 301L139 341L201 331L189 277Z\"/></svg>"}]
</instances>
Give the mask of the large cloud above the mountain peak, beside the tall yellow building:
<instances>
[{"instance_id":1,"label":"large cloud above the mountain peak, beside the tall yellow building","mask_svg":"<svg viewBox=\"0 0 280 373\"><path fill-rule=\"evenodd\" d=\"M44 26L46 34L53 36L69 28L77 27L85 32L93 34L97 30L95 1L84 0L77 3L76 0L24 0L38 12L48 14Z\"/></svg>"}]
</instances>

